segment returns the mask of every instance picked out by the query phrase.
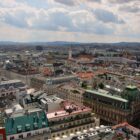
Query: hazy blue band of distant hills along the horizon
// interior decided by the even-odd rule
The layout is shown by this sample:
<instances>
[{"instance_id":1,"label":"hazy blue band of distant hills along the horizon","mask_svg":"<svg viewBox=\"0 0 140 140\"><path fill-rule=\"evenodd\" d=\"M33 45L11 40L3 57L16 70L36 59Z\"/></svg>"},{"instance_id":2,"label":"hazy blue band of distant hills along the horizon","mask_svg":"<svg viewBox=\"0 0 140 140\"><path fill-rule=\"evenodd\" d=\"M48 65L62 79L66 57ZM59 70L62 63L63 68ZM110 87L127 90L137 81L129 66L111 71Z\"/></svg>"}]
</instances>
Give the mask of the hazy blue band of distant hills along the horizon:
<instances>
[{"instance_id":1,"label":"hazy blue band of distant hills along the horizon","mask_svg":"<svg viewBox=\"0 0 140 140\"><path fill-rule=\"evenodd\" d=\"M20 48L34 48L36 46L42 47L95 47L95 48L131 48L140 49L140 42L118 42L118 43L80 43L80 42L10 42L0 41L0 48L3 49L20 49Z\"/></svg>"}]
</instances>

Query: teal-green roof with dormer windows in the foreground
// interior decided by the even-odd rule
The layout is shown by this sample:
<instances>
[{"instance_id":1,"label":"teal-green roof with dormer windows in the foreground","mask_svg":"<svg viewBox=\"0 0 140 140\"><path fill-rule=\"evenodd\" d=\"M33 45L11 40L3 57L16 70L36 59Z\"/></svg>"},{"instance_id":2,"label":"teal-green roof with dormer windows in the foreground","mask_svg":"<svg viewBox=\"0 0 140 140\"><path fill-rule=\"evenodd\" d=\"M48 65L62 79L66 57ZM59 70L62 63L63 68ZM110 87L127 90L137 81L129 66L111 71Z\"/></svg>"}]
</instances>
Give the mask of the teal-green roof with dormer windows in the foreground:
<instances>
[{"instance_id":1,"label":"teal-green roof with dormer windows in the foreground","mask_svg":"<svg viewBox=\"0 0 140 140\"><path fill-rule=\"evenodd\" d=\"M27 113L5 119L6 134L12 135L25 131L41 129L48 126L44 111Z\"/></svg>"}]
</instances>

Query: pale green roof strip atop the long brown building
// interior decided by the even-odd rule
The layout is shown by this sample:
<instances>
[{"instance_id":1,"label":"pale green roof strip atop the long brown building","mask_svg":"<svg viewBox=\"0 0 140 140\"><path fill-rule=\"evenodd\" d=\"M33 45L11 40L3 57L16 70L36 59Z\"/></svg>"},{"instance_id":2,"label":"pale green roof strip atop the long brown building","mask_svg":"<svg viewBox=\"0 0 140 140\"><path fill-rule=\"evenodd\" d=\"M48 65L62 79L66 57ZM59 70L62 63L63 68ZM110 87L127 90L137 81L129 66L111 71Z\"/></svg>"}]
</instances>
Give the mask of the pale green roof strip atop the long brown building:
<instances>
[{"instance_id":1,"label":"pale green roof strip atop the long brown building","mask_svg":"<svg viewBox=\"0 0 140 140\"><path fill-rule=\"evenodd\" d=\"M96 90L86 90L86 92L90 92L90 93L93 93L95 95L104 96L104 97L111 98L111 99L118 100L118 101L125 102L125 103L128 102L128 100L123 99L123 98L121 98L119 96L114 96L114 95L111 95L111 94L101 93L101 92L96 91Z\"/></svg>"}]
</instances>

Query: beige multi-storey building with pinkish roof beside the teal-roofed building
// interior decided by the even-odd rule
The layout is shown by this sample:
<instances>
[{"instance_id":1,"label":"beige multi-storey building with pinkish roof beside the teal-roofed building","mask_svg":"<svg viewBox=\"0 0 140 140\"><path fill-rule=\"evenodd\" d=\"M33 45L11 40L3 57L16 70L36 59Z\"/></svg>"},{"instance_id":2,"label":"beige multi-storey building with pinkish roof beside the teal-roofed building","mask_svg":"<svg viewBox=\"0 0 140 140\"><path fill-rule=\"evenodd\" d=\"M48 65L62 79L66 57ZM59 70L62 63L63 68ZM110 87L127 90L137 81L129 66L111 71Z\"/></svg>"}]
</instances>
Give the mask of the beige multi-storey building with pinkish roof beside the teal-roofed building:
<instances>
[{"instance_id":1,"label":"beige multi-storey building with pinkish roof beside the teal-roofed building","mask_svg":"<svg viewBox=\"0 0 140 140\"><path fill-rule=\"evenodd\" d=\"M52 140L99 126L100 121L90 108L67 101L63 105L64 109L47 114Z\"/></svg>"}]
</instances>

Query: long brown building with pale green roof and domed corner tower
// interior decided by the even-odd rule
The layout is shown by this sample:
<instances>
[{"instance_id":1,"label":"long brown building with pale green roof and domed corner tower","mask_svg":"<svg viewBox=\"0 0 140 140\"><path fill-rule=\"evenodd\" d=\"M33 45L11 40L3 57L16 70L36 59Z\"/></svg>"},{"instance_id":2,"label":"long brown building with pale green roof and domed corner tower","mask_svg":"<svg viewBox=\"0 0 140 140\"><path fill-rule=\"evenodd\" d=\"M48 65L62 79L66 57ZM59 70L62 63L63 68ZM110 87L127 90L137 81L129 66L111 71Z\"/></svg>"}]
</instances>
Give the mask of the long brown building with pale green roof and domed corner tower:
<instances>
[{"instance_id":1,"label":"long brown building with pale green roof and domed corner tower","mask_svg":"<svg viewBox=\"0 0 140 140\"><path fill-rule=\"evenodd\" d=\"M90 106L101 120L110 124L135 122L140 117L140 98L136 87L126 87L122 96L86 90L84 104ZM134 96L134 98L133 98Z\"/></svg>"}]
</instances>

